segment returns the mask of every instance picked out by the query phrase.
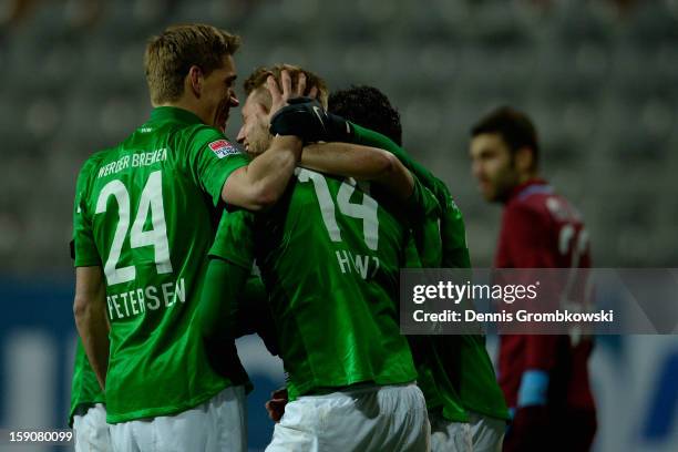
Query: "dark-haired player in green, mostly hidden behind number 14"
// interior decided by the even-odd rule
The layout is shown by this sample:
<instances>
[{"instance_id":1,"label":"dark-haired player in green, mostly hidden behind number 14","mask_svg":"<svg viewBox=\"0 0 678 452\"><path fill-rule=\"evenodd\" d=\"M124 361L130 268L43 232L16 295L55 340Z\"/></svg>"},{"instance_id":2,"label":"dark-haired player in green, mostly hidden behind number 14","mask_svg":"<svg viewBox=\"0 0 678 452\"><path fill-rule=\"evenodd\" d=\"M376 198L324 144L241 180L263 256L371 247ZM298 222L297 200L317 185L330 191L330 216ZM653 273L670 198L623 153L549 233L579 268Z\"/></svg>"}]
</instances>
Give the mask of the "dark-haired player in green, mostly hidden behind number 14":
<instances>
[{"instance_id":1,"label":"dark-haired player in green, mostly hidden behind number 14","mask_svg":"<svg viewBox=\"0 0 678 452\"><path fill-rule=\"evenodd\" d=\"M352 86L333 92L329 96L329 112L388 136L392 141L390 145L371 137L373 132L356 132L357 136L362 133L367 138L363 138L363 144L393 150L403 157L405 165L413 165L402 150L393 146L401 145L400 115L378 89ZM418 177L431 189L435 191L438 185L439 193L446 193L444 184L430 174L419 172ZM448 197L449 193L441 196L441 205L448 204ZM448 267L470 266L463 218L456 207L453 210L456 210L454 215L446 219L441 213L435 213L432 218L418 222L415 229L420 230L415 235L423 235L418 242L418 245L421 244L418 250L420 264L424 267L441 267L443 259ZM439 218L443 232L448 229L444 256L431 249L440 243ZM429 228L425 225L431 220L434 226ZM428 237L428 234L435 237ZM418 384L427 397L429 408L432 451L501 450L507 411L484 348L484 338L418 336L411 339L415 342L412 345L419 371Z\"/></svg>"}]
</instances>

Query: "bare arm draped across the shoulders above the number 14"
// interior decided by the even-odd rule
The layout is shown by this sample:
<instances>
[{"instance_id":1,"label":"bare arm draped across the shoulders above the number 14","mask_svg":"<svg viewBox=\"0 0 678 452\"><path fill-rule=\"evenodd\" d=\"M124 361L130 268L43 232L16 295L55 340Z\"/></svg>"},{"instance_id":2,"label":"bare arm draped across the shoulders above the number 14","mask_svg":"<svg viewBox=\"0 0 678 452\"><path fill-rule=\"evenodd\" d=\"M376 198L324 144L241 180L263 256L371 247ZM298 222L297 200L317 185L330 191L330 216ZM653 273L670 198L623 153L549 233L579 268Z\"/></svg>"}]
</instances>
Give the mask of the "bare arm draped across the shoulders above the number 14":
<instances>
[{"instance_id":1,"label":"bare arm draped across the shoulders above the number 14","mask_svg":"<svg viewBox=\"0 0 678 452\"><path fill-rule=\"evenodd\" d=\"M372 181L402 201L412 196L414 178L393 154L350 143L321 143L304 147L301 166L321 173Z\"/></svg>"}]
</instances>

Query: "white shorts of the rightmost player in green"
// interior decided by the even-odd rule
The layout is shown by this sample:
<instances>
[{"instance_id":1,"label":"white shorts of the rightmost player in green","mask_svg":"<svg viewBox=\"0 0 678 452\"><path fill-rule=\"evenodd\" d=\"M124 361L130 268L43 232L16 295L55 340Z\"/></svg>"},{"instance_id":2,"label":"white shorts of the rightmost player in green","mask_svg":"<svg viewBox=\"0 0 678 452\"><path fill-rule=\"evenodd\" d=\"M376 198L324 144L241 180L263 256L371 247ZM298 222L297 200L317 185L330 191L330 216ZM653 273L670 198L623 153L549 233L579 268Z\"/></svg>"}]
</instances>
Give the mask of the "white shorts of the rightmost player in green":
<instances>
[{"instance_id":1,"label":"white shorts of the rightmost player in green","mask_svg":"<svg viewBox=\"0 0 678 452\"><path fill-rule=\"evenodd\" d=\"M470 412L469 422L431 414L432 452L501 452L506 422Z\"/></svg>"}]
</instances>

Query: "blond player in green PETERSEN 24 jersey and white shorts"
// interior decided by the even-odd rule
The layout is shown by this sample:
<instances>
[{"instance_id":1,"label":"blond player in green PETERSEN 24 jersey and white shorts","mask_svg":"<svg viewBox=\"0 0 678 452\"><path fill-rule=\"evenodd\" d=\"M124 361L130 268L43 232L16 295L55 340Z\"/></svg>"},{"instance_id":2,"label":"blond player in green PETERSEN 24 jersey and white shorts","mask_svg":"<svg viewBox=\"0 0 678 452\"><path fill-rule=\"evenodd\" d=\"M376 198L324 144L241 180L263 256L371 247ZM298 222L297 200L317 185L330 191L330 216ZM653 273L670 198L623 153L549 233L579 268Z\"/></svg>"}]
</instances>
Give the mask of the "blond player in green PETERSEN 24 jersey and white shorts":
<instances>
[{"instance_id":1,"label":"blond player in green PETERSEN 24 jersey and white shorts","mask_svg":"<svg viewBox=\"0 0 678 452\"><path fill-rule=\"evenodd\" d=\"M246 449L247 377L233 342L223 348L234 362L227 374L212 369L196 332L196 307L216 207L256 210L275 203L301 141L276 136L250 163L223 135L238 104L238 45L237 37L202 24L153 38L144 58L151 119L92 155L78 178L73 309L105 388L114 450ZM292 85L286 72L281 92L273 78L267 83L271 114L308 91L304 78Z\"/></svg>"}]
</instances>

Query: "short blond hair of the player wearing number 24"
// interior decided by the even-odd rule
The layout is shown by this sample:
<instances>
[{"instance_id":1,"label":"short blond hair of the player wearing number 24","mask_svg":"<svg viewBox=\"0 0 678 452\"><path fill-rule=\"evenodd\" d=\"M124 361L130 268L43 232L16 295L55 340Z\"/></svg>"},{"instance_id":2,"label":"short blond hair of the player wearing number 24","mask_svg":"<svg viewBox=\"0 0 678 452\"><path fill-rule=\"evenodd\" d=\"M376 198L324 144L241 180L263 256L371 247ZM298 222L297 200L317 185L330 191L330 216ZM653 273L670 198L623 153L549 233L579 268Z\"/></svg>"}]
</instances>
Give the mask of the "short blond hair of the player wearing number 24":
<instances>
[{"instance_id":1,"label":"short blond hair of the player wearing number 24","mask_svg":"<svg viewBox=\"0 0 678 452\"><path fill-rule=\"evenodd\" d=\"M177 101L192 65L205 75L222 68L224 56L240 47L240 38L202 23L173 25L146 44L144 69L153 104Z\"/></svg>"}]
</instances>

